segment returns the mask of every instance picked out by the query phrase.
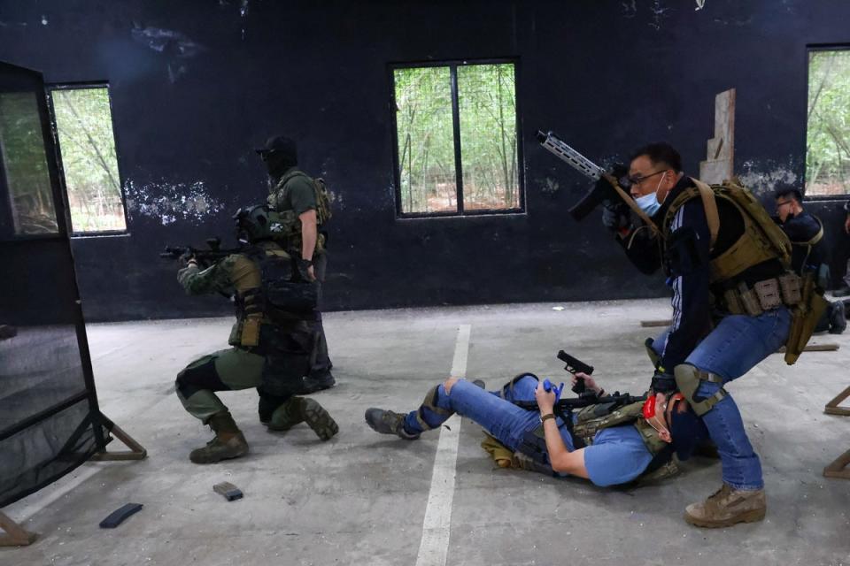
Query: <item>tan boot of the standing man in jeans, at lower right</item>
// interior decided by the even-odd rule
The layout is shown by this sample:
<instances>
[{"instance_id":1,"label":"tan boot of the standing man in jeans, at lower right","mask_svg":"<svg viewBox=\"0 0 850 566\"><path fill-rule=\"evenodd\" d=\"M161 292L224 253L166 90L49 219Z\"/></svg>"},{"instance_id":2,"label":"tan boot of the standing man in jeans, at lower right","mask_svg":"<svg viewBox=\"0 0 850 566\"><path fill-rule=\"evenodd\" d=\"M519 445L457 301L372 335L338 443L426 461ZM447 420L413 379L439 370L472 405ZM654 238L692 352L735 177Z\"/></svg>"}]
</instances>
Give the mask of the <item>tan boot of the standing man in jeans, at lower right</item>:
<instances>
[{"instance_id":1,"label":"tan boot of the standing man in jeans, at lower right","mask_svg":"<svg viewBox=\"0 0 850 566\"><path fill-rule=\"evenodd\" d=\"M744 491L723 484L706 501L692 503L684 510L684 520L709 529L737 523L754 523L768 509L763 489Z\"/></svg>"}]
</instances>

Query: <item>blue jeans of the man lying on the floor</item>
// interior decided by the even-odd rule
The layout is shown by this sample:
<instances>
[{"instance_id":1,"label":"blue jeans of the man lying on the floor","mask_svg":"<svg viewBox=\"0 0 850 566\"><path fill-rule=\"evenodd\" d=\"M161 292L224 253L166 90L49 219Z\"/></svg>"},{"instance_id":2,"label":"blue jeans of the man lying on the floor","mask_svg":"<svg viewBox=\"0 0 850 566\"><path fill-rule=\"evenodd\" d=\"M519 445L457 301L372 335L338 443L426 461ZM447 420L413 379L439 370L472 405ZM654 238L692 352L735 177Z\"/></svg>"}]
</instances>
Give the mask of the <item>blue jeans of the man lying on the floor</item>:
<instances>
[{"instance_id":1,"label":"blue jeans of the man lying on the floor","mask_svg":"<svg viewBox=\"0 0 850 566\"><path fill-rule=\"evenodd\" d=\"M445 393L444 385L438 386L435 404L440 409L471 418L490 432L492 437L515 451L522 444L525 433L533 431L540 425L540 412L537 409L528 410L517 407L514 401L533 402L535 388L537 388L537 379L526 376L514 384L513 390L506 391L506 398L502 399L499 392L488 393L466 379L460 379L452 386L449 394ZM417 414L432 429L439 427L452 416L451 414L440 415L422 406L405 417L407 432L422 432L422 426L416 418ZM560 436L567 449L572 451L573 440L560 419L558 423Z\"/></svg>"}]
</instances>

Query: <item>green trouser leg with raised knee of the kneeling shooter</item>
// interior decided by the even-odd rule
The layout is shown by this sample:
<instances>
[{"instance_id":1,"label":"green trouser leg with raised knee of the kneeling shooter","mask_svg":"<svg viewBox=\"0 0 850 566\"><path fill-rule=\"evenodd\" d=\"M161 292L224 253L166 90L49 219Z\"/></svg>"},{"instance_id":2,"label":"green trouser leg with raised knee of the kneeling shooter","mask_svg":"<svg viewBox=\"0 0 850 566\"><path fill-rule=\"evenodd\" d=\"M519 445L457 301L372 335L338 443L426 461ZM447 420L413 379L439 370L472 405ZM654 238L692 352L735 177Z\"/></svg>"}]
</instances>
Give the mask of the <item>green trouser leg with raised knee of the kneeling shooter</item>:
<instances>
[{"instance_id":1,"label":"green trouser leg with raised knee of the kneeling shooter","mask_svg":"<svg viewBox=\"0 0 850 566\"><path fill-rule=\"evenodd\" d=\"M216 413L228 410L214 392L259 386L265 362L264 356L242 348L201 356L177 374L177 397L190 415L206 423Z\"/></svg>"}]
</instances>

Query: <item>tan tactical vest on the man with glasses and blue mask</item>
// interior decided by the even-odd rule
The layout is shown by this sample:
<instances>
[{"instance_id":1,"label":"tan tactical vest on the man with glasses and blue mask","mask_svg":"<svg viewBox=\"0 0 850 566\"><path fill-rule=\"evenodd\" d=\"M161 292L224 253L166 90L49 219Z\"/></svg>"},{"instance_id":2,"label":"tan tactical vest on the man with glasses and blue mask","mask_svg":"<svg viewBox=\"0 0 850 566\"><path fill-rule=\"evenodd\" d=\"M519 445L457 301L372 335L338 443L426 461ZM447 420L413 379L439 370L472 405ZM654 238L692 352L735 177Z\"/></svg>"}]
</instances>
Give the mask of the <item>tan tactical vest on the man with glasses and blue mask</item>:
<instances>
[{"instance_id":1,"label":"tan tactical vest on the man with glasses and blue mask","mask_svg":"<svg viewBox=\"0 0 850 566\"><path fill-rule=\"evenodd\" d=\"M665 255L673 219L676 212L693 198L701 198L706 208L709 231L712 233L710 254L709 283L720 283L745 272L753 265L770 259L777 259L787 269L791 265L791 241L788 236L769 217L764 207L744 187L738 187L729 181L723 185L708 186L702 181L692 179L696 187L685 189L676 196L661 223ZM714 243L720 229L715 199L720 198L734 205L744 219L744 233L729 249L715 254Z\"/></svg>"}]
</instances>

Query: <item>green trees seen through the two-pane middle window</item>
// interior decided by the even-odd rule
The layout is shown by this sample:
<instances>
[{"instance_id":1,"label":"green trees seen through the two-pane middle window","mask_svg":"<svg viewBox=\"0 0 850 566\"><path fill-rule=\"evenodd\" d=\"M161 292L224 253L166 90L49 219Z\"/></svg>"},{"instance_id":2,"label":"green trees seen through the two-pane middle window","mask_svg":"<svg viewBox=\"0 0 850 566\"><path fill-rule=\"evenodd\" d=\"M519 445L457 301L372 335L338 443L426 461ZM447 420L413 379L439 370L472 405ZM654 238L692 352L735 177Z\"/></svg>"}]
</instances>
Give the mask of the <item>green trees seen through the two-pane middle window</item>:
<instances>
[{"instance_id":1,"label":"green trees seen through the two-pane middle window","mask_svg":"<svg viewBox=\"0 0 850 566\"><path fill-rule=\"evenodd\" d=\"M519 210L513 63L393 70L402 214Z\"/></svg>"}]
</instances>

